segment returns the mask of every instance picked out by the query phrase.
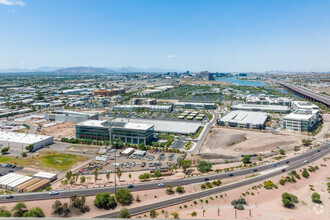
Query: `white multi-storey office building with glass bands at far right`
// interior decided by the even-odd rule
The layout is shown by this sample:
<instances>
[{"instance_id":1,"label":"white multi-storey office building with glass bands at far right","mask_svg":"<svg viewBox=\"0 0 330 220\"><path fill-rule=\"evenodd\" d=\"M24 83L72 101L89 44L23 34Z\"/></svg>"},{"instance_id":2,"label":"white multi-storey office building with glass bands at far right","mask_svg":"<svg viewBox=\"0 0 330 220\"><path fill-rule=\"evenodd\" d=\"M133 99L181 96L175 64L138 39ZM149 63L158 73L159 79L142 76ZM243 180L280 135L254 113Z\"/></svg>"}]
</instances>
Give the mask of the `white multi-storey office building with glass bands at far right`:
<instances>
[{"instance_id":1,"label":"white multi-storey office building with glass bands at far right","mask_svg":"<svg viewBox=\"0 0 330 220\"><path fill-rule=\"evenodd\" d=\"M298 109L283 119L283 128L291 131L311 131L316 128L318 110Z\"/></svg>"}]
</instances>

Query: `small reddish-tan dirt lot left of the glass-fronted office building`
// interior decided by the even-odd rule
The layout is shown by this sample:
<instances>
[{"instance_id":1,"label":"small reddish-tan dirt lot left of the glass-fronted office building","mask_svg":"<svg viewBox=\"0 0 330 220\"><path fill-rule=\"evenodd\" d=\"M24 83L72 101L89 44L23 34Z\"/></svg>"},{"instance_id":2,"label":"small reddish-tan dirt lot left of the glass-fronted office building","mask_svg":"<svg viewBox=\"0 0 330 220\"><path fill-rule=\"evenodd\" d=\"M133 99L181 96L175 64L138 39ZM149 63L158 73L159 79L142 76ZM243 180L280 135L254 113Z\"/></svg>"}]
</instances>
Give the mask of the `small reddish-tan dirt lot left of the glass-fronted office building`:
<instances>
[{"instance_id":1,"label":"small reddish-tan dirt lot left of the glass-fronted office building","mask_svg":"<svg viewBox=\"0 0 330 220\"><path fill-rule=\"evenodd\" d=\"M39 134L53 136L55 140L59 140L62 137L73 135L76 132L75 123L63 122L51 127L42 128Z\"/></svg>"}]
</instances>

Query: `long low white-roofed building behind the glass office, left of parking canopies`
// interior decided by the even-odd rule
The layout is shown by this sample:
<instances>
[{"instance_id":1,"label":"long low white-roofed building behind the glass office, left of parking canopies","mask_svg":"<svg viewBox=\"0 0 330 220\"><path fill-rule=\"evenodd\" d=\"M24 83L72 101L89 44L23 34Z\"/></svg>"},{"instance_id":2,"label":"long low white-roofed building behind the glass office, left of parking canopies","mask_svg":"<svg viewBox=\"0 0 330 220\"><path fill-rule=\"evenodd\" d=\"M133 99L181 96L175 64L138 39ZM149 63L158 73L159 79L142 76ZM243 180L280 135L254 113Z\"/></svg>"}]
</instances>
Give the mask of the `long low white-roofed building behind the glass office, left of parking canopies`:
<instances>
[{"instance_id":1,"label":"long low white-roofed building behind the glass office, left of parking canopies","mask_svg":"<svg viewBox=\"0 0 330 220\"><path fill-rule=\"evenodd\" d=\"M171 105L116 105L113 111L150 111L150 112L172 112Z\"/></svg>"}]
</instances>

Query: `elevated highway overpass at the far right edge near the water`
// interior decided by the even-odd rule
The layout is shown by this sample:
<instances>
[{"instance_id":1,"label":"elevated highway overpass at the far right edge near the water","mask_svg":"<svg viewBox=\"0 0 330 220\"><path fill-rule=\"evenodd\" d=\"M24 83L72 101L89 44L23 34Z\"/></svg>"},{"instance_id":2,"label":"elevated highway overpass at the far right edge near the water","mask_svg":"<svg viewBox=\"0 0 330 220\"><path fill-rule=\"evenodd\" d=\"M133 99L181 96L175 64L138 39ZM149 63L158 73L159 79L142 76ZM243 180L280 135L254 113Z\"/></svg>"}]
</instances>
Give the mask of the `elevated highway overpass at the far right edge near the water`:
<instances>
[{"instance_id":1,"label":"elevated highway overpass at the far right edge near the water","mask_svg":"<svg viewBox=\"0 0 330 220\"><path fill-rule=\"evenodd\" d=\"M291 90L293 93L295 93L307 100L310 100L312 102L320 102L320 103L326 105L328 108L330 106L330 97L327 95L322 95L322 94L313 92L302 86L291 85L291 84L283 83L283 82L279 82L278 84Z\"/></svg>"}]
</instances>

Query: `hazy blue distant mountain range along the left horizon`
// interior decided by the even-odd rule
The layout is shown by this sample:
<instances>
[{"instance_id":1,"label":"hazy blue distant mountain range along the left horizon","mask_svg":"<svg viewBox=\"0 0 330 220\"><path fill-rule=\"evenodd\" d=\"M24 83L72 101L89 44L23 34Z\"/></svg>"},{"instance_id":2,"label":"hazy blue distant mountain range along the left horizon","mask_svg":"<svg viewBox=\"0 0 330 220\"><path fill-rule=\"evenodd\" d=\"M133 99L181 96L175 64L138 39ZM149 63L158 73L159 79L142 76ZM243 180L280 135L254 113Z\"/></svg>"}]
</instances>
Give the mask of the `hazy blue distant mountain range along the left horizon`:
<instances>
[{"instance_id":1,"label":"hazy blue distant mountain range along the left horizon","mask_svg":"<svg viewBox=\"0 0 330 220\"><path fill-rule=\"evenodd\" d=\"M135 67L39 67L37 69L19 69L19 68L11 68L11 69L0 69L0 73L66 73L66 74L102 74L102 73L166 73L166 72L182 72L176 69L161 69L161 68L148 68L141 69Z\"/></svg>"}]
</instances>

